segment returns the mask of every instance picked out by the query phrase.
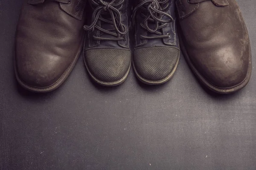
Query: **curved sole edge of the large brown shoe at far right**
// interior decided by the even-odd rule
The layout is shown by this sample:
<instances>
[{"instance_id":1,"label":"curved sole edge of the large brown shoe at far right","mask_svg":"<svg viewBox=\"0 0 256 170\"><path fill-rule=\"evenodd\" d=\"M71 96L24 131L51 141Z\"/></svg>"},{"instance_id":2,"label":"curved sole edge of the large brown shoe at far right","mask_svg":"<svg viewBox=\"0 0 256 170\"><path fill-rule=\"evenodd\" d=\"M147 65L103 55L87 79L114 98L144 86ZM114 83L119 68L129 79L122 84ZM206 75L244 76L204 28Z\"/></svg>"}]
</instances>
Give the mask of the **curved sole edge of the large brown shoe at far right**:
<instances>
[{"instance_id":1,"label":"curved sole edge of the large brown shoe at far right","mask_svg":"<svg viewBox=\"0 0 256 170\"><path fill-rule=\"evenodd\" d=\"M251 48L250 48L250 40L249 40L249 67L248 67L248 71L247 71L247 75L246 78L239 83L238 85L235 85L233 87L229 87L229 88L220 88L218 86L213 85L211 82L209 82L206 78L204 78L204 76L202 76L199 71L195 68L195 66L192 64L191 59L189 58L189 55L187 54L186 48L183 45L183 40L182 40L182 36L180 35L179 31L178 31L179 37L180 37L180 49L183 53L183 56L185 57L187 63L189 64L191 70L194 72L194 74L198 77L198 79L200 80L200 82L202 82L207 88L209 88L211 91L214 91L215 93L218 94L230 94L230 93L234 93L236 91L239 91L240 89L244 88L244 86L247 85L247 83L250 80L250 76L251 76L251 72L252 72L252 63L251 63Z\"/></svg>"}]
</instances>

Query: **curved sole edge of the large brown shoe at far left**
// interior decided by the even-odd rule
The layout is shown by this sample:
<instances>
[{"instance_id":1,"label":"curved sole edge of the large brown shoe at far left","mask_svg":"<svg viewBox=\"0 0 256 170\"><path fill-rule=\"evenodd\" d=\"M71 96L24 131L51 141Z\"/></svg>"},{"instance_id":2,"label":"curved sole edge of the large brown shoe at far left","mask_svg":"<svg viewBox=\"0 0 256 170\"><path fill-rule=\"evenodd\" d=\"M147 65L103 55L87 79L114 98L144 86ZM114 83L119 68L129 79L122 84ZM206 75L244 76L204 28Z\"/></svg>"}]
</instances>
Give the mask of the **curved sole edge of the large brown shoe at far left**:
<instances>
[{"instance_id":1,"label":"curved sole edge of the large brown shoe at far left","mask_svg":"<svg viewBox=\"0 0 256 170\"><path fill-rule=\"evenodd\" d=\"M83 42L84 39L82 38ZM35 92L35 93L47 93L47 92L51 92L54 91L56 88L58 88L59 86L61 86L63 84L63 82L67 79L67 77L70 75L71 71L73 70L74 66L76 65L76 62L80 56L80 53L82 51L82 47L83 47L83 43L80 43L80 47L79 47L79 51L76 54L76 57L74 58L74 60L71 62L71 64L69 65L69 67L66 69L66 71L64 72L64 74L61 75L61 77L57 80L57 82L55 82L53 85L41 88L41 87L35 87L32 85L27 84L26 82L23 82L22 79L20 79L19 74L17 72L17 68L16 68L16 52L15 52L15 59L14 59L14 68L15 68L15 76L17 79L17 82L26 90Z\"/></svg>"}]
</instances>

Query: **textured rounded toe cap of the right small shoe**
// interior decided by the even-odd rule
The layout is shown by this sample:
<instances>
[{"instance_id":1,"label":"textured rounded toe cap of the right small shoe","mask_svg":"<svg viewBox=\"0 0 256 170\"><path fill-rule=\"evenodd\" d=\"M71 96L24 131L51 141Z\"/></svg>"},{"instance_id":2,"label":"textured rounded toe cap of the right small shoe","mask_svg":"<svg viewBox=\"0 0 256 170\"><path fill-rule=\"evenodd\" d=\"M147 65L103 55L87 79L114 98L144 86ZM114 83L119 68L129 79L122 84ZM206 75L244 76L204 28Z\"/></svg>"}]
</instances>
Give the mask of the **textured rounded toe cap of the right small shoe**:
<instances>
[{"instance_id":1,"label":"textured rounded toe cap of the right small shoe","mask_svg":"<svg viewBox=\"0 0 256 170\"><path fill-rule=\"evenodd\" d=\"M134 50L134 67L145 80L157 82L169 77L175 68L180 51L172 47L144 47Z\"/></svg>"}]
</instances>

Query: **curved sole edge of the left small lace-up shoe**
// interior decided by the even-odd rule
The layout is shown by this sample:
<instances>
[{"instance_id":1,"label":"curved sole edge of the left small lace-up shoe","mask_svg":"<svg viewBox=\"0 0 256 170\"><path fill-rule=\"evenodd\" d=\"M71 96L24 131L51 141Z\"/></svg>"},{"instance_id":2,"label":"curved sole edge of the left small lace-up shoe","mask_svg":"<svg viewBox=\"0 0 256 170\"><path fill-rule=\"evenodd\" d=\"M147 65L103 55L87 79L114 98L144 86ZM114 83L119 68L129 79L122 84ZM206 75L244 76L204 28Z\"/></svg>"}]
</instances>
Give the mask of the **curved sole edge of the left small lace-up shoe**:
<instances>
[{"instance_id":1,"label":"curved sole edge of the left small lace-up shoe","mask_svg":"<svg viewBox=\"0 0 256 170\"><path fill-rule=\"evenodd\" d=\"M125 73L125 76L122 77L122 79L120 79L120 80L118 80L116 82L103 82L103 81L97 79L96 77L94 77L93 74L90 72L90 70L89 70L89 68L88 68L88 66L86 64L86 61L85 61L84 51L83 51L83 58L84 58L84 64L85 64L86 70L90 74L90 77L93 79L94 82L98 83L99 85L103 85L103 86L117 86L117 85L122 84L123 82L125 82L126 78L128 77L128 74L130 72L130 69L131 69L131 62L130 62L128 71Z\"/></svg>"}]
</instances>

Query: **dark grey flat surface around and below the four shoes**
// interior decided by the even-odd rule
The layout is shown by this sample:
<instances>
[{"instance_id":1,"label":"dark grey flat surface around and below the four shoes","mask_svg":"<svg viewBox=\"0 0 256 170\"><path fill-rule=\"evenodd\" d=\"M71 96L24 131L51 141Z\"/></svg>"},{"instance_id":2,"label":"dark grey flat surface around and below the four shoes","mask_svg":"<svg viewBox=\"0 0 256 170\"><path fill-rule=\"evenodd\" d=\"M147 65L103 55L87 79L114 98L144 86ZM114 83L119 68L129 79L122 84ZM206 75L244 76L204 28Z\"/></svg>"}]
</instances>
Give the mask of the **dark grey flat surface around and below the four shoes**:
<instances>
[{"instance_id":1,"label":"dark grey flat surface around and below the four shoes","mask_svg":"<svg viewBox=\"0 0 256 170\"><path fill-rule=\"evenodd\" d=\"M253 74L231 95L202 88L181 56L171 81L93 83L82 57L48 94L17 85L21 0L0 0L0 170L256 170L256 1L238 0Z\"/></svg>"}]
</instances>

